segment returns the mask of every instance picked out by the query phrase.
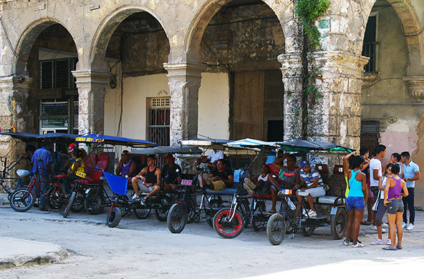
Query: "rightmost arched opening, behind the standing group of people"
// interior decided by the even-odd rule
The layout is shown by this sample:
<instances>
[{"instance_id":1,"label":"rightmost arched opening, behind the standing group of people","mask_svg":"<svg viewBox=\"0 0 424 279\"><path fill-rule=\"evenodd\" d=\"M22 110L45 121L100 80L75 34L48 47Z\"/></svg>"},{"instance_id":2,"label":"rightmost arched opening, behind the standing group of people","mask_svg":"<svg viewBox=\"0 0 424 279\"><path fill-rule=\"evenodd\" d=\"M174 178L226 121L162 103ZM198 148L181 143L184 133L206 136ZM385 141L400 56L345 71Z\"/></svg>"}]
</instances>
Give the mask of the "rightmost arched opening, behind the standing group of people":
<instances>
[{"instance_id":1,"label":"rightmost arched opening, behind the standing group of people","mask_svg":"<svg viewBox=\"0 0 424 279\"><path fill-rule=\"evenodd\" d=\"M370 57L370 62L365 66L361 96L361 146L372 152L378 143L386 145L385 162L391 153L416 150L417 126L424 113L404 81L413 63L411 39L405 33L411 18L391 2L376 1L368 18L363 56Z\"/></svg>"}]
</instances>

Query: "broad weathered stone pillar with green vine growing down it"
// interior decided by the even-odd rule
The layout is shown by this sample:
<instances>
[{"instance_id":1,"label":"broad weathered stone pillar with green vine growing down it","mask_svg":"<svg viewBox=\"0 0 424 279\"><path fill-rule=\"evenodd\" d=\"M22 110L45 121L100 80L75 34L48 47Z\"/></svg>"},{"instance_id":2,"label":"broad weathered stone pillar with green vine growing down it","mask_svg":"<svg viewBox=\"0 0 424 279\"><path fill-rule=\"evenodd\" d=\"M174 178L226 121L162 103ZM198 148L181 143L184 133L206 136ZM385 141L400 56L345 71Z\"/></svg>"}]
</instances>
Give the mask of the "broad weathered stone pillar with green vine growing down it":
<instances>
[{"instance_id":1,"label":"broad weathered stone pillar with green vine growing down it","mask_svg":"<svg viewBox=\"0 0 424 279\"><path fill-rule=\"evenodd\" d=\"M321 72L316 84L324 97L310 109L308 137L360 148L360 96L367 57L348 52L314 52L311 65ZM302 127L299 54L278 57L285 85L285 140L298 139Z\"/></svg>"}]
</instances>

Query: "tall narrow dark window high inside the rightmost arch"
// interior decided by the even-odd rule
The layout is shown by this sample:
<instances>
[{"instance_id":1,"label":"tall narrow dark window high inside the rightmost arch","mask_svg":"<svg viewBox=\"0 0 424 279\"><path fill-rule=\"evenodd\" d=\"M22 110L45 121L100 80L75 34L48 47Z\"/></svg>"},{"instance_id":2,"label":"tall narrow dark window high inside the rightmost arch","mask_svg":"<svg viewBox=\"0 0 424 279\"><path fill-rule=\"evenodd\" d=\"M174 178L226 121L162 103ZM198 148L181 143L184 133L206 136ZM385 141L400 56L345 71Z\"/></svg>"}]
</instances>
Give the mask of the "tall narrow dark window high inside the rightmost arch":
<instances>
[{"instance_id":1,"label":"tall narrow dark window high inside the rightmost arch","mask_svg":"<svg viewBox=\"0 0 424 279\"><path fill-rule=\"evenodd\" d=\"M364 66L365 72L377 72L377 16L368 18L362 55L370 58L368 64Z\"/></svg>"}]
</instances>

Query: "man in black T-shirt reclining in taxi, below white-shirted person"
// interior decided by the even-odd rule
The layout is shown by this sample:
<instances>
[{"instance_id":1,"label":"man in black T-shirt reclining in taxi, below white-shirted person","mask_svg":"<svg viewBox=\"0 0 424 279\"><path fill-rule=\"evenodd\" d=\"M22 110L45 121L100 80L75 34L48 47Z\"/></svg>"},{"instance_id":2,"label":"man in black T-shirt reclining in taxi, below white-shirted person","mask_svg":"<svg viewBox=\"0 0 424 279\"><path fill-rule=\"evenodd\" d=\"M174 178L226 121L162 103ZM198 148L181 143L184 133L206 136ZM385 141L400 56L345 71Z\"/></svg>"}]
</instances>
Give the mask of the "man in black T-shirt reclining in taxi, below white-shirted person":
<instances>
[{"instance_id":1,"label":"man in black T-shirt reclining in taxi, below white-shirted person","mask_svg":"<svg viewBox=\"0 0 424 279\"><path fill-rule=\"evenodd\" d=\"M212 191L219 191L225 187L231 187L234 183L234 174L231 170L225 170L225 160L219 159L216 162L216 169L211 174L199 174L200 186L210 188Z\"/></svg>"}]
</instances>

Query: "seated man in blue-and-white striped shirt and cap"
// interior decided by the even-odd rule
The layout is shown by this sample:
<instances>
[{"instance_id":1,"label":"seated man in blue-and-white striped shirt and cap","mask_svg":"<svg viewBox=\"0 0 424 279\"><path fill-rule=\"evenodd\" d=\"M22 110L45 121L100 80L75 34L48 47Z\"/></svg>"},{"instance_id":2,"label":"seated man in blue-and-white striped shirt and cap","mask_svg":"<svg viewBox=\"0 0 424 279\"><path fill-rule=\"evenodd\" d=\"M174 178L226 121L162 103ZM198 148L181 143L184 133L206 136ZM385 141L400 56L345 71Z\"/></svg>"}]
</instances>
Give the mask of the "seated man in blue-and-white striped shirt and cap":
<instances>
[{"instance_id":1,"label":"seated man in blue-and-white striped shirt and cap","mask_svg":"<svg viewBox=\"0 0 424 279\"><path fill-rule=\"evenodd\" d=\"M302 198L305 197L305 194L307 193L307 203L309 203L310 210L303 209L303 215L309 216L309 217L315 217L317 216L317 212L314 208L314 200L313 198L318 198L320 196L325 196L325 189L324 189L324 182L322 182L321 174L317 170L312 170L310 163L307 161L300 162L300 167L302 168L300 170L300 180L301 184L298 187L298 190L296 191L296 197L298 198L298 201L301 203ZM298 215L300 205L298 205L298 208L296 210L296 216Z\"/></svg>"}]
</instances>

